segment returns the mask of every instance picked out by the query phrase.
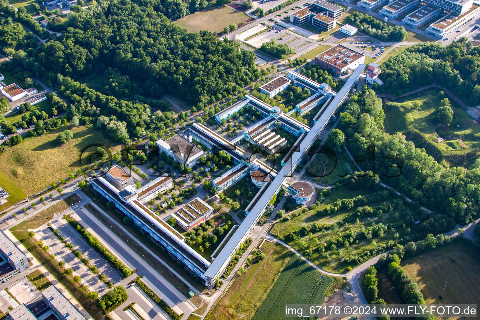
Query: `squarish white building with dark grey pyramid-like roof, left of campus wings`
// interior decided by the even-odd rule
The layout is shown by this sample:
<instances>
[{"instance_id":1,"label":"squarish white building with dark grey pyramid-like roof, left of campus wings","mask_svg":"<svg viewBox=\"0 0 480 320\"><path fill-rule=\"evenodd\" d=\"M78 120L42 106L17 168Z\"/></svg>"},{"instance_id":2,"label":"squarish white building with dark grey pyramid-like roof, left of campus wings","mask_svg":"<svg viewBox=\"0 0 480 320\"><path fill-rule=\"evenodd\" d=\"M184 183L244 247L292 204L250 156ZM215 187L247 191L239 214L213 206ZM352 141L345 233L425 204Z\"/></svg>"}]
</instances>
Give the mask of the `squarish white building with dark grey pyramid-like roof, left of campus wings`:
<instances>
[{"instance_id":1,"label":"squarish white building with dark grey pyramid-like roof, left of campus wings","mask_svg":"<svg viewBox=\"0 0 480 320\"><path fill-rule=\"evenodd\" d=\"M160 139L156 144L158 145L159 152L165 152L178 163L192 167L197 163L198 159L204 155L204 152L192 143L191 136L189 136L189 139L190 140L187 140L177 134L166 141Z\"/></svg>"}]
</instances>

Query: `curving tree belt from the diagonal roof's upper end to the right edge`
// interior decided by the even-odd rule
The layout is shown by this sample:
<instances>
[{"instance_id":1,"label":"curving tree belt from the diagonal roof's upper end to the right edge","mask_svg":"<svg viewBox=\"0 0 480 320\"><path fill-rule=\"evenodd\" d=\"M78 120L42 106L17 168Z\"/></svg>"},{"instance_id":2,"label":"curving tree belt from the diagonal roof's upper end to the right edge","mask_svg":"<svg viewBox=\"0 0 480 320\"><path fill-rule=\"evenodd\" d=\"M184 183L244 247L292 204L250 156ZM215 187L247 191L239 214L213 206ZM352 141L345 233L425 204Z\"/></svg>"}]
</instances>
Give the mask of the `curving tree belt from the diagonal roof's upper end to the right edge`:
<instances>
[{"instance_id":1,"label":"curving tree belt from the diagonal roof's upper end to the right edge","mask_svg":"<svg viewBox=\"0 0 480 320\"><path fill-rule=\"evenodd\" d=\"M458 224L478 217L480 159L470 168L444 167L404 135L385 133L382 100L366 86L351 97L340 117L346 145L358 160L362 158L363 170L376 170L389 186L451 216Z\"/></svg>"}]
</instances>

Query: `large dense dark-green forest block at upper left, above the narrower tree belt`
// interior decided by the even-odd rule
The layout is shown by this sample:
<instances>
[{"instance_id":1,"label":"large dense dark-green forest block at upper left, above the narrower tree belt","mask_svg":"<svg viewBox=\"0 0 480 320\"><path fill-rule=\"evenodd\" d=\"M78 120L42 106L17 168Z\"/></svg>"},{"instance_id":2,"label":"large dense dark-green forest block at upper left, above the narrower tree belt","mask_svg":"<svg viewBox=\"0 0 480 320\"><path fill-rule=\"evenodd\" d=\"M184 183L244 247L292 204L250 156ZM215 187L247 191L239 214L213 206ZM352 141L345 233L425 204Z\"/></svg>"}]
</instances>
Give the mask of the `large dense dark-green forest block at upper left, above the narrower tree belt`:
<instances>
[{"instance_id":1,"label":"large dense dark-green forest block at upper left, above the narrower tree belt","mask_svg":"<svg viewBox=\"0 0 480 320\"><path fill-rule=\"evenodd\" d=\"M14 58L52 83L57 74L78 79L106 72L122 83L120 97L169 93L193 104L227 96L260 76L255 55L239 52L233 41L206 31L188 33L152 7L130 0L97 4L71 12L58 40L19 50Z\"/></svg>"}]
</instances>

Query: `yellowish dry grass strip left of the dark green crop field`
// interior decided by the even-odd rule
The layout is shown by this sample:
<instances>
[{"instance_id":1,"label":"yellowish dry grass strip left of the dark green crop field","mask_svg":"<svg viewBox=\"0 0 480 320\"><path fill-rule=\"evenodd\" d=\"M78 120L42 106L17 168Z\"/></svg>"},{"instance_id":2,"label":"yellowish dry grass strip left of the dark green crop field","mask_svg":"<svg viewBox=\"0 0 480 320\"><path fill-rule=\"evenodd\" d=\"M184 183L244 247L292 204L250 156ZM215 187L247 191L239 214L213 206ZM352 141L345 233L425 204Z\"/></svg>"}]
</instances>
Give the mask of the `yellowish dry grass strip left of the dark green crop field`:
<instances>
[{"instance_id":1,"label":"yellowish dry grass strip left of the dark green crop field","mask_svg":"<svg viewBox=\"0 0 480 320\"><path fill-rule=\"evenodd\" d=\"M210 310L205 320L252 319L293 256L290 250L272 242L264 242L261 249L266 258L253 263L245 273L235 278L225 296Z\"/></svg>"}]
</instances>

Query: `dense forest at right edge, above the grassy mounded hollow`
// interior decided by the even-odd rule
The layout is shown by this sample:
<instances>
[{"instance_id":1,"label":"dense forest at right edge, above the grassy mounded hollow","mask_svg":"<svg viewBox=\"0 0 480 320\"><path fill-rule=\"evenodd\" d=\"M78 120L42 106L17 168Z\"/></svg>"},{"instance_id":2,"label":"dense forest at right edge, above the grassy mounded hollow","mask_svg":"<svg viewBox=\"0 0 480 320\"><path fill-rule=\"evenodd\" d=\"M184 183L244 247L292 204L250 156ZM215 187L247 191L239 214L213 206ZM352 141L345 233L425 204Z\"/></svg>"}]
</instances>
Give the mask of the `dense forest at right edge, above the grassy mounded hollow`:
<instances>
[{"instance_id":1,"label":"dense forest at right edge, above the grassy mounded hollow","mask_svg":"<svg viewBox=\"0 0 480 320\"><path fill-rule=\"evenodd\" d=\"M400 95L421 85L438 83L465 103L480 104L480 47L466 37L444 46L425 42L408 47L385 61L380 78L383 91Z\"/></svg>"}]
</instances>

